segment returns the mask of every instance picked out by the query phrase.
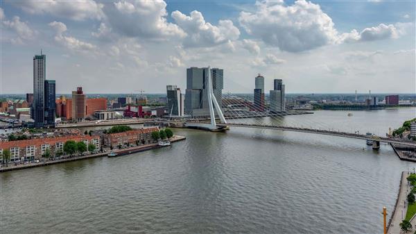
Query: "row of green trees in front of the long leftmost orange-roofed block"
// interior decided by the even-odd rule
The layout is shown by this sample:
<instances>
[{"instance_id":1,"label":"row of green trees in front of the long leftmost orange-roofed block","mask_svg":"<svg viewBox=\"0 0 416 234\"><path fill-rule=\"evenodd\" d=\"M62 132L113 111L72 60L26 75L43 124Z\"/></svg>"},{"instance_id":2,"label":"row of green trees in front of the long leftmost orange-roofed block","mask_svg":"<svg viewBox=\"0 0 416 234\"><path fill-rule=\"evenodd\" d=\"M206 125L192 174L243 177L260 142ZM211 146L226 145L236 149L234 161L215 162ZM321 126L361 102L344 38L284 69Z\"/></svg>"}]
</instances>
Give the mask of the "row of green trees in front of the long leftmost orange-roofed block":
<instances>
[{"instance_id":1,"label":"row of green trees in front of the long leftmost orange-roofed block","mask_svg":"<svg viewBox=\"0 0 416 234\"><path fill-rule=\"evenodd\" d=\"M69 156L73 156L74 153L84 153L85 151L94 151L96 150L96 146L94 144L85 144L84 142L75 142L73 140L69 140L64 143L64 150L63 151L56 151L55 156L62 156L63 153L68 154ZM1 153L3 161L6 162L6 167L8 167L8 162L10 162L10 150L4 149L3 153ZM45 153L42 155L44 158L51 158L51 150L46 149Z\"/></svg>"}]
</instances>

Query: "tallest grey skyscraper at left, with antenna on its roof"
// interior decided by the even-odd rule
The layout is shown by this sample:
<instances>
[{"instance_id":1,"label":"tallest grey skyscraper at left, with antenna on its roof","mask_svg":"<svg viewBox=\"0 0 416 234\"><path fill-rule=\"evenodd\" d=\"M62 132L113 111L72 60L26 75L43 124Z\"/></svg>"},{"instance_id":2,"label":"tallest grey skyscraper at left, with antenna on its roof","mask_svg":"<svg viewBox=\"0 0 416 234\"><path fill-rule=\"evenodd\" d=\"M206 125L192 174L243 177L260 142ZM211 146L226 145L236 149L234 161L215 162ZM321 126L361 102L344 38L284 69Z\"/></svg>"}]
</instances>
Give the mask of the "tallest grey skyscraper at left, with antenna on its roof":
<instances>
[{"instance_id":1,"label":"tallest grey skyscraper at left, with antenna on its roof","mask_svg":"<svg viewBox=\"0 0 416 234\"><path fill-rule=\"evenodd\" d=\"M44 83L46 78L46 55L33 57L33 104L31 109L35 127L44 126Z\"/></svg>"}]
</instances>

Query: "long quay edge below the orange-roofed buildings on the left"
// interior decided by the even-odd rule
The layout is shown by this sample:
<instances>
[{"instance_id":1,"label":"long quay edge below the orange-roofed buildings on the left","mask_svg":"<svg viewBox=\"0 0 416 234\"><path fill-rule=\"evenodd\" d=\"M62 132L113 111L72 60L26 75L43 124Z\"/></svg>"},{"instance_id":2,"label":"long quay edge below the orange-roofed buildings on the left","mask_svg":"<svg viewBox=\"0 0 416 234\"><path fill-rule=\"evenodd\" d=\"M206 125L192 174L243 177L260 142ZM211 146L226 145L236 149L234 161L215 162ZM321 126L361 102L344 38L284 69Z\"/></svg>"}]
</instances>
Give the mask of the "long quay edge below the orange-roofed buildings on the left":
<instances>
[{"instance_id":1,"label":"long quay edge below the orange-roofed buildings on the left","mask_svg":"<svg viewBox=\"0 0 416 234\"><path fill-rule=\"evenodd\" d=\"M186 137L182 136L182 135L174 135L171 139L170 142L174 143L174 142L179 142L182 140L185 140ZM141 152L141 151L147 151L150 149L157 149L160 148L161 146L159 146L159 144L155 143L155 144L144 144L144 145L140 145L137 147L130 147L128 149L114 149L114 153L117 153L119 155L125 155L125 154L130 154L130 153L137 153L137 152ZM57 164L57 163L63 163L63 162L71 162L71 161L76 161L76 160L84 160L84 159L88 159L88 158L98 158L98 157L103 157L103 156L107 156L107 154L110 152L103 152L103 153L94 153L94 154L89 154L89 155L85 155L85 156L78 156L78 157L73 157L73 158L64 158L64 159L60 159L60 160L51 160L51 161L46 161L46 162L33 162L33 163L28 163L28 164L19 164L19 165L9 165L8 167L1 167L0 168L0 173L1 172L9 172L12 170L17 170L17 169L28 169L28 168L32 168L32 167L45 167L45 166L49 166L49 165L53 165L53 164Z\"/></svg>"}]
</instances>

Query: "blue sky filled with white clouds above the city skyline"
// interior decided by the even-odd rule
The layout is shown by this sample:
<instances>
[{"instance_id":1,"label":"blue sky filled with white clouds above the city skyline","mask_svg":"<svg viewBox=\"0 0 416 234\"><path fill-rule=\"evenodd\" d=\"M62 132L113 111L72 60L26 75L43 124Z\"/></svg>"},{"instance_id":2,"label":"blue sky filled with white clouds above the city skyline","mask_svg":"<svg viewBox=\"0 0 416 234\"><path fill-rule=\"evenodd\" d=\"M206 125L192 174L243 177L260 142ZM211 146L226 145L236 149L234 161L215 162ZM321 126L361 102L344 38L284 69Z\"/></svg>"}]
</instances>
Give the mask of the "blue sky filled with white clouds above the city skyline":
<instances>
[{"instance_id":1,"label":"blue sky filled with white clouds above the city skyline","mask_svg":"<svg viewBox=\"0 0 416 234\"><path fill-rule=\"evenodd\" d=\"M57 93L186 89L187 67L288 93L416 93L415 1L0 1L0 93L33 92L46 54Z\"/></svg>"}]
</instances>

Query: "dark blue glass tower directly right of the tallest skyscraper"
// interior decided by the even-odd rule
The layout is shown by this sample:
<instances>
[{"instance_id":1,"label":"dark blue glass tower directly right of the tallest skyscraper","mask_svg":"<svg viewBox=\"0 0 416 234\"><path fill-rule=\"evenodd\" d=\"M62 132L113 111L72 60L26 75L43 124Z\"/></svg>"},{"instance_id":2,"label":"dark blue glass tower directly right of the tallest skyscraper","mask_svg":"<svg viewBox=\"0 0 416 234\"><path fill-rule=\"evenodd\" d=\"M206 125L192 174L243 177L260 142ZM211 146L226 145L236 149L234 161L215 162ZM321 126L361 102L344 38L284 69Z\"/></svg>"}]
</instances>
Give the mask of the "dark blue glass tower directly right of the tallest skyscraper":
<instances>
[{"instance_id":1,"label":"dark blue glass tower directly right of the tallest skyscraper","mask_svg":"<svg viewBox=\"0 0 416 234\"><path fill-rule=\"evenodd\" d=\"M44 99L45 99L45 121L44 124L47 126L55 126L55 81L46 80L44 85Z\"/></svg>"}]
</instances>

